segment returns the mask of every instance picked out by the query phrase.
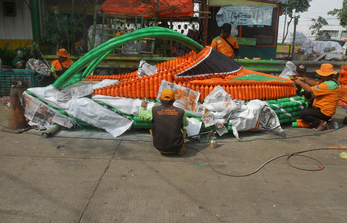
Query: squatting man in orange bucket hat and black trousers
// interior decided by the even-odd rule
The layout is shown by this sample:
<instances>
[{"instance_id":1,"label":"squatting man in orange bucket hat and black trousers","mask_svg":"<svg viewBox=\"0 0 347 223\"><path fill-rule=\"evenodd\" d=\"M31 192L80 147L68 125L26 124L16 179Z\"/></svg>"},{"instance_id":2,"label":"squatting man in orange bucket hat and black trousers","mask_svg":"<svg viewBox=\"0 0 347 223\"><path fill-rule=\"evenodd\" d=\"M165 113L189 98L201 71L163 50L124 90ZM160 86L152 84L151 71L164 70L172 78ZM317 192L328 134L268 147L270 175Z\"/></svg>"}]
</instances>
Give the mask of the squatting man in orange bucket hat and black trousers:
<instances>
[{"instance_id":1,"label":"squatting man in orange bucket hat and black trousers","mask_svg":"<svg viewBox=\"0 0 347 223\"><path fill-rule=\"evenodd\" d=\"M311 122L315 126L313 130L323 131L330 124L329 119L336 113L339 91L334 75L337 71L334 71L331 64L322 64L316 72L321 82L309 80L306 77L294 79L295 84L299 84L305 91L315 96L312 108L300 111L298 116L306 122Z\"/></svg>"}]
</instances>

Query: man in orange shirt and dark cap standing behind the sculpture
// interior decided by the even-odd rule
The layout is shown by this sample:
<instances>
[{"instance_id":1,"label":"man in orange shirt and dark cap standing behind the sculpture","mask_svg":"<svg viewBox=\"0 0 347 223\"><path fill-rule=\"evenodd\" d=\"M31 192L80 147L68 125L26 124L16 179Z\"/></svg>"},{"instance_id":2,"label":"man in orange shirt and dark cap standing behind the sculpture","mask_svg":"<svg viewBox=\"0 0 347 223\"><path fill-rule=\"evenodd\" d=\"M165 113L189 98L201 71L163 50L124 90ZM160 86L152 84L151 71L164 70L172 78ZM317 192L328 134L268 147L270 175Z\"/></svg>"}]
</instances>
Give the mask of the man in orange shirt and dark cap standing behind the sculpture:
<instances>
[{"instance_id":1,"label":"man in orange shirt and dark cap standing behind the sculpture","mask_svg":"<svg viewBox=\"0 0 347 223\"><path fill-rule=\"evenodd\" d=\"M239 47L235 36L230 36L230 30L231 25L224 23L221 27L222 33L212 40L211 47L234 59L238 54Z\"/></svg>"}]
</instances>

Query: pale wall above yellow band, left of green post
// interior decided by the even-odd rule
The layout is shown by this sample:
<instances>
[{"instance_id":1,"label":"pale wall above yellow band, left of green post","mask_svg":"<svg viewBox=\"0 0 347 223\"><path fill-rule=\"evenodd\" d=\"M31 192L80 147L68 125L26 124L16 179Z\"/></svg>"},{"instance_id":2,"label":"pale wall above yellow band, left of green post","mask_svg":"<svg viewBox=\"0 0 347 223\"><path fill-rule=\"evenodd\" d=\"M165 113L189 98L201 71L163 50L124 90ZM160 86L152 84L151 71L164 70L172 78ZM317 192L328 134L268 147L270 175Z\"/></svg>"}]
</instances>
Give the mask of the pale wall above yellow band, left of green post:
<instances>
[{"instance_id":1,"label":"pale wall above yellow band, left of green post","mask_svg":"<svg viewBox=\"0 0 347 223\"><path fill-rule=\"evenodd\" d=\"M4 16L0 2L0 39L33 39L29 7L23 0L9 2L16 3L17 16Z\"/></svg>"}]
</instances>

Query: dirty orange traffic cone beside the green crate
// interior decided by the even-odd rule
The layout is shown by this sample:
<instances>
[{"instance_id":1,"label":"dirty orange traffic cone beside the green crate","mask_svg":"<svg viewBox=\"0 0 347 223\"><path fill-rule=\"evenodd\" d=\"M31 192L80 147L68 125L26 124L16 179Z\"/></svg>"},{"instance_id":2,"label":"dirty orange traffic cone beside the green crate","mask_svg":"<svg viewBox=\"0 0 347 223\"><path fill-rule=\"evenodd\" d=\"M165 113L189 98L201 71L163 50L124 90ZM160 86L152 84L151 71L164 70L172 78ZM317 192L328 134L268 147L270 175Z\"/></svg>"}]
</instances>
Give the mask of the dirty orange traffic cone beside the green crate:
<instances>
[{"instance_id":1,"label":"dirty orange traffic cone beside the green crate","mask_svg":"<svg viewBox=\"0 0 347 223\"><path fill-rule=\"evenodd\" d=\"M8 128L2 128L1 131L18 134L28 131L29 129L31 129L31 126L28 127L26 123L22 103L19 100L18 90L16 86L11 85Z\"/></svg>"}]
</instances>

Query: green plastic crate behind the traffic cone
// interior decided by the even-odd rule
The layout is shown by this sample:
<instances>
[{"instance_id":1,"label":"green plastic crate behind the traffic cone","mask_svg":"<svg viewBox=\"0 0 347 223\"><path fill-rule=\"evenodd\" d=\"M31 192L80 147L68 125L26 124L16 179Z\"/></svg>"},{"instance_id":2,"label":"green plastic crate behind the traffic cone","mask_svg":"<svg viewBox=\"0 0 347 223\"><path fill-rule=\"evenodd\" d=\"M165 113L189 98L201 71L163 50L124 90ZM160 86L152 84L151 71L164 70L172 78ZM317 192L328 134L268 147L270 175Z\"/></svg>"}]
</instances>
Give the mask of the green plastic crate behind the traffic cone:
<instances>
[{"instance_id":1,"label":"green plastic crate behind the traffic cone","mask_svg":"<svg viewBox=\"0 0 347 223\"><path fill-rule=\"evenodd\" d=\"M9 96L11 85L17 83L19 79L23 79L24 84L28 84L28 88L43 86L43 76L33 70L10 69L0 72L0 91L2 96Z\"/></svg>"}]
</instances>

